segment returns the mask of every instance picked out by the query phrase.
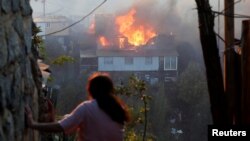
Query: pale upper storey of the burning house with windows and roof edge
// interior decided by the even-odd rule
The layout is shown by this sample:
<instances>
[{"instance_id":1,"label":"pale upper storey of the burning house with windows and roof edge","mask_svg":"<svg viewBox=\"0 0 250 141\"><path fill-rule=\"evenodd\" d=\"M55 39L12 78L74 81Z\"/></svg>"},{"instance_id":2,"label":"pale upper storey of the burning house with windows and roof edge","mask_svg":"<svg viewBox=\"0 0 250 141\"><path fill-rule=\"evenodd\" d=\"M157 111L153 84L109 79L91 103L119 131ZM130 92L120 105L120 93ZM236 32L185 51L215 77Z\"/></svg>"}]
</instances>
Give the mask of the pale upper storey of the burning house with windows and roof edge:
<instances>
[{"instance_id":1,"label":"pale upper storey of the burning house with windows and roof edge","mask_svg":"<svg viewBox=\"0 0 250 141\"><path fill-rule=\"evenodd\" d=\"M177 52L166 50L101 49L97 57L98 71L177 71L178 63Z\"/></svg>"}]
</instances>

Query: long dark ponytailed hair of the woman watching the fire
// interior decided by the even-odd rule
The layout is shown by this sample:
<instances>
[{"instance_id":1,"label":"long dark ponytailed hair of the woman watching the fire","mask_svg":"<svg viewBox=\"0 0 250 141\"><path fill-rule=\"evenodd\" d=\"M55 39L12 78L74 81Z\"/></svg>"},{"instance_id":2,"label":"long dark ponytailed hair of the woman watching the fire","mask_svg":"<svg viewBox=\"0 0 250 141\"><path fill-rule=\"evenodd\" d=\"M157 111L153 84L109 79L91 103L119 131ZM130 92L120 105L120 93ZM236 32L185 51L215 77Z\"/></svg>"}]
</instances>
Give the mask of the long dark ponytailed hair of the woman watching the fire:
<instances>
[{"instance_id":1,"label":"long dark ponytailed hair of the woman watching the fire","mask_svg":"<svg viewBox=\"0 0 250 141\"><path fill-rule=\"evenodd\" d=\"M129 114L124 103L114 95L114 84L106 73L94 73L89 77L87 90L96 99L98 106L111 119L120 124L129 121Z\"/></svg>"}]
</instances>

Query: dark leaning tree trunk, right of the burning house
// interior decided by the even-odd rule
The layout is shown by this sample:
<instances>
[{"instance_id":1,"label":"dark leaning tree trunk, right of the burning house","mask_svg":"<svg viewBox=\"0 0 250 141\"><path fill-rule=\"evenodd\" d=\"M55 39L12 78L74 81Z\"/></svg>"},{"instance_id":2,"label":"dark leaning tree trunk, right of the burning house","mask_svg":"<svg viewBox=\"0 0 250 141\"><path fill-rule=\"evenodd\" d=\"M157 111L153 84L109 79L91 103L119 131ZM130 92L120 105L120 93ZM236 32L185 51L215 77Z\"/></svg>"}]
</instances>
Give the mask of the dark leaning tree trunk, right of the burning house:
<instances>
[{"instance_id":1,"label":"dark leaning tree trunk, right of the burning house","mask_svg":"<svg viewBox=\"0 0 250 141\"><path fill-rule=\"evenodd\" d=\"M206 66L208 92L214 124L228 124L220 56L214 32L214 15L208 0L195 0L198 9L200 40Z\"/></svg>"}]
</instances>

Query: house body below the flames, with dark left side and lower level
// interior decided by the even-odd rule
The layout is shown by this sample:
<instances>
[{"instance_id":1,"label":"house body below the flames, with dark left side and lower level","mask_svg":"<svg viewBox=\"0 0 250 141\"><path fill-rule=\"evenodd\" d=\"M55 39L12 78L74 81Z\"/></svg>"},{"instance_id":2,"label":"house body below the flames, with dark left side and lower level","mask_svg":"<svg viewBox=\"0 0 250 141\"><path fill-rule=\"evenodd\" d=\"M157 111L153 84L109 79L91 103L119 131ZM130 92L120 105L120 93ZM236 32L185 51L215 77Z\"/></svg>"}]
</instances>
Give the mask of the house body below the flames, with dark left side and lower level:
<instances>
[{"instance_id":1,"label":"house body below the flames, with dark left side and lower level","mask_svg":"<svg viewBox=\"0 0 250 141\"><path fill-rule=\"evenodd\" d=\"M150 83L175 81L178 76L178 53L176 50L161 49L83 51L81 70L109 72L119 77L116 79L133 73Z\"/></svg>"}]
</instances>

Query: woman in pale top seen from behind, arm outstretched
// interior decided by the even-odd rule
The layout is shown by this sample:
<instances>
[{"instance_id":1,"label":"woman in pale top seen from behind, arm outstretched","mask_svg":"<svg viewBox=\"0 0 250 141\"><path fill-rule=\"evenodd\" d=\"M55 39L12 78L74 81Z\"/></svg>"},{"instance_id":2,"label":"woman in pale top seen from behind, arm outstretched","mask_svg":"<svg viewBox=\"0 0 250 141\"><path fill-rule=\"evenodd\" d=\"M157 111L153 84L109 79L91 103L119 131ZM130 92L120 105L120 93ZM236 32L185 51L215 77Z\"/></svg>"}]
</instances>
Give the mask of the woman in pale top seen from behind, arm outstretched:
<instances>
[{"instance_id":1,"label":"woman in pale top seen from behind, arm outstretched","mask_svg":"<svg viewBox=\"0 0 250 141\"><path fill-rule=\"evenodd\" d=\"M88 80L87 91L89 100L79 104L58 122L35 122L31 111L26 108L28 126L46 132L77 131L78 141L122 141L123 126L129 121L129 114L125 105L114 95L110 77L107 74L93 74Z\"/></svg>"}]
</instances>

